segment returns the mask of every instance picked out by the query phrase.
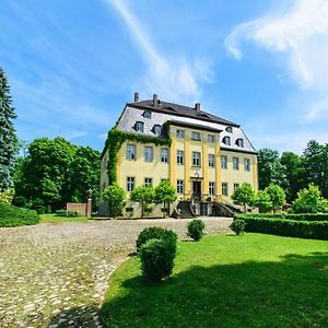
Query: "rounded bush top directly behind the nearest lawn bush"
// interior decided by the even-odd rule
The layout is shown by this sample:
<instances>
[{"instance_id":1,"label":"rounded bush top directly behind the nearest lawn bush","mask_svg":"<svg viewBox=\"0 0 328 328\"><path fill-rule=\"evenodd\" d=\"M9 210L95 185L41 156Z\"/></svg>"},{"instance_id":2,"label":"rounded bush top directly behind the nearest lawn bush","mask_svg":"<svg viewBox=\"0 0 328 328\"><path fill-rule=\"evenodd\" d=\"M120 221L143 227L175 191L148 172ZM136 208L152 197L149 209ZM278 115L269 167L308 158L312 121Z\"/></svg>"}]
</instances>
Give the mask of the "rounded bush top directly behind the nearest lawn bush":
<instances>
[{"instance_id":1,"label":"rounded bush top directly behind the nearest lawn bush","mask_svg":"<svg viewBox=\"0 0 328 328\"><path fill-rule=\"evenodd\" d=\"M137 251L139 253L141 246L150 239L165 239L168 244L171 244L174 254L176 253L177 235L172 230L160 226L145 227L137 238Z\"/></svg>"}]
</instances>

